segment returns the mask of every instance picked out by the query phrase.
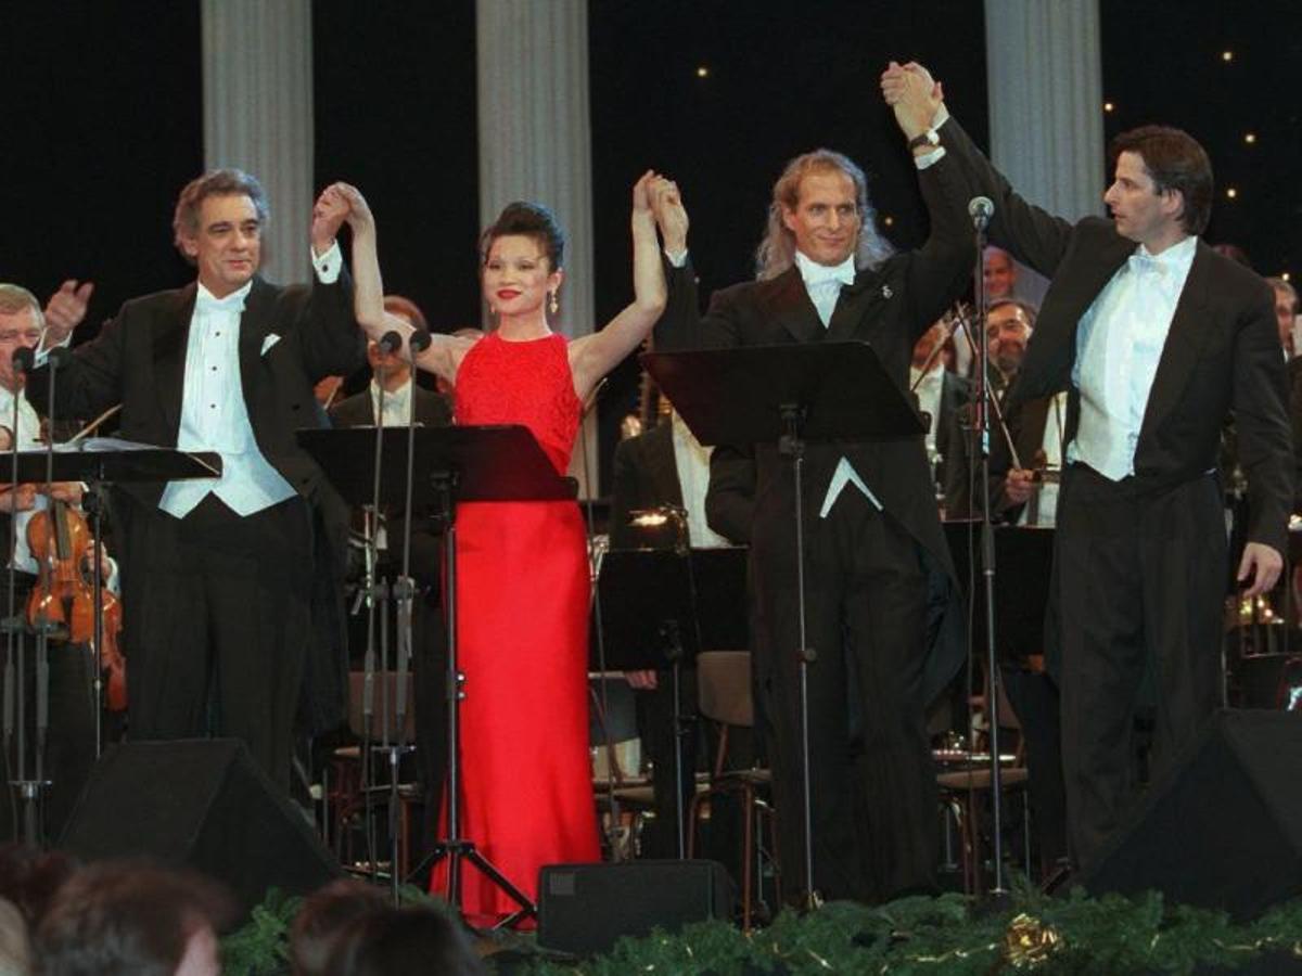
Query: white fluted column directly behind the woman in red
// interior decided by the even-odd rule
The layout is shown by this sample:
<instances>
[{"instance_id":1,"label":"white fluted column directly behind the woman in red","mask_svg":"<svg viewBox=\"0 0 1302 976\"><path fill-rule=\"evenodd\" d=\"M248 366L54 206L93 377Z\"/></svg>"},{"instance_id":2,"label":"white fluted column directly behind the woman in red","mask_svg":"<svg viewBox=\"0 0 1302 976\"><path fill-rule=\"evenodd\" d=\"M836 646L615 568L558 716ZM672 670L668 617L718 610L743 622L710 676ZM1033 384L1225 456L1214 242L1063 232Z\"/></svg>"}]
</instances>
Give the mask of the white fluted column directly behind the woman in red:
<instances>
[{"instance_id":1,"label":"white fluted column directly behind the woman in red","mask_svg":"<svg viewBox=\"0 0 1302 976\"><path fill-rule=\"evenodd\" d=\"M479 223L490 224L512 200L556 213L566 234L556 325L570 337L587 334L594 329L587 0L477 0L475 13ZM581 493L596 493L595 411L570 474Z\"/></svg>"}]
</instances>

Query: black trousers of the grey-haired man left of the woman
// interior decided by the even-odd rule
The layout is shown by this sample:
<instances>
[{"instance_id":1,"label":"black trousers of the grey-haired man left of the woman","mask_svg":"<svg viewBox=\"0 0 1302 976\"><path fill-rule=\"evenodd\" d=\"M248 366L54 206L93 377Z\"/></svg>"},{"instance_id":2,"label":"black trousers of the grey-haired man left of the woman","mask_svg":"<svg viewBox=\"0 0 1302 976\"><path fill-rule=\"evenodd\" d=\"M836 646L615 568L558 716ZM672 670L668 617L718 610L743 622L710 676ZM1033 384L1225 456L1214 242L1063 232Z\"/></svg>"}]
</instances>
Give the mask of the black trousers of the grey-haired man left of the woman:
<instances>
[{"instance_id":1,"label":"black trousers of the grey-haired man left of the woman","mask_svg":"<svg viewBox=\"0 0 1302 976\"><path fill-rule=\"evenodd\" d=\"M293 497L240 517L133 505L122 576L133 739L236 738L283 789L307 643L312 534Z\"/></svg>"}]
</instances>

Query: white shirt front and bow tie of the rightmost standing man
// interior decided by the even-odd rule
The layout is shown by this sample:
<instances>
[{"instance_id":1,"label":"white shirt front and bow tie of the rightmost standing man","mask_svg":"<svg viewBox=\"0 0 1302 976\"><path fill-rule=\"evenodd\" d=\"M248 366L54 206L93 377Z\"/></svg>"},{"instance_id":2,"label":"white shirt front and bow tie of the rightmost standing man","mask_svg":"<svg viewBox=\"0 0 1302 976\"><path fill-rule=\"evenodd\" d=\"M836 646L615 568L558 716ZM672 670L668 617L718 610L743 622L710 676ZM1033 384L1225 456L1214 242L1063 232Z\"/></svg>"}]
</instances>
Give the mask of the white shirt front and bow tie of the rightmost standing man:
<instances>
[{"instance_id":1,"label":"white shirt front and bow tie of the rightmost standing man","mask_svg":"<svg viewBox=\"0 0 1302 976\"><path fill-rule=\"evenodd\" d=\"M1113 481L1134 474L1152 380L1197 247L1198 238L1186 237L1154 256L1141 245L1081 318L1072 368L1081 423L1069 461Z\"/></svg>"}]
</instances>

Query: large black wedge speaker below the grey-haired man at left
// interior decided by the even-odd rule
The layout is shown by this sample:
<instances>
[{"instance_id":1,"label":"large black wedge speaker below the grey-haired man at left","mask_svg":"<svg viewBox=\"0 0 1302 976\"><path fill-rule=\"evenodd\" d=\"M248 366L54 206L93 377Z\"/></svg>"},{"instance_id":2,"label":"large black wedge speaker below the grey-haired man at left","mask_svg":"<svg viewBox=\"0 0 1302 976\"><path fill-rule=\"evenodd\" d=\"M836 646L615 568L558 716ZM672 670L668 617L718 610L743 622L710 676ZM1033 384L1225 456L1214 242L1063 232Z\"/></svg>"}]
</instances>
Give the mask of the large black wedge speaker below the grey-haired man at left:
<instances>
[{"instance_id":1,"label":"large black wedge speaker below the grey-haired man at left","mask_svg":"<svg viewBox=\"0 0 1302 976\"><path fill-rule=\"evenodd\" d=\"M185 865L228 885L246 910L268 888L306 894L340 874L303 815L234 739L109 748L59 846L83 860Z\"/></svg>"}]
</instances>

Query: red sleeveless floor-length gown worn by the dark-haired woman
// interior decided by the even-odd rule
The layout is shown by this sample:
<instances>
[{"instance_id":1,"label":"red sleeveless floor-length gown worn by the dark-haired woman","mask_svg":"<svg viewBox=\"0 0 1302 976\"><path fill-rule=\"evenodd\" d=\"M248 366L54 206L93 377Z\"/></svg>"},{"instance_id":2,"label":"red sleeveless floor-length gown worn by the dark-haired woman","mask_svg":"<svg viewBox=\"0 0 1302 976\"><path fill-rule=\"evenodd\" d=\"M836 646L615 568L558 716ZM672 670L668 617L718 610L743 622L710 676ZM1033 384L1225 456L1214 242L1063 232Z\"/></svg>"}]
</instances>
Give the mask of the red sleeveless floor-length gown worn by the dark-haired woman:
<instances>
[{"instance_id":1,"label":"red sleeveless floor-length gown worn by the dark-haired woman","mask_svg":"<svg viewBox=\"0 0 1302 976\"><path fill-rule=\"evenodd\" d=\"M523 424L556 471L569 466L582 405L562 336L496 333L461 362L458 424ZM531 899L538 869L600 858L587 733L589 565L578 505L457 506L461 834ZM447 891L447 864L431 880ZM462 910L492 924L517 910L478 868Z\"/></svg>"}]
</instances>

